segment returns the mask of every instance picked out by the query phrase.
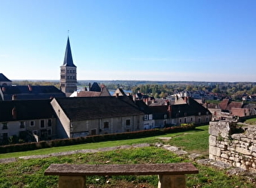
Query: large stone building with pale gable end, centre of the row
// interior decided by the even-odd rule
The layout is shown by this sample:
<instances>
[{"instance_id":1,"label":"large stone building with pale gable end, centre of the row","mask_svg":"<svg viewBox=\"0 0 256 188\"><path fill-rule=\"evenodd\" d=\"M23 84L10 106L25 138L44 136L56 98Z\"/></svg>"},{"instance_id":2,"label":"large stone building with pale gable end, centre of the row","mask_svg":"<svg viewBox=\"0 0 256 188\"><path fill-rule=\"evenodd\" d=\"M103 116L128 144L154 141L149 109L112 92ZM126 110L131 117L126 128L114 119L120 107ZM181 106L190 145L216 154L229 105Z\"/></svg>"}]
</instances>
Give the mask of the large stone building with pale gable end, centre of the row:
<instances>
[{"instance_id":1,"label":"large stone building with pale gable end, centre of the row","mask_svg":"<svg viewBox=\"0 0 256 188\"><path fill-rule=\"evenodd\" d=\"M59 138L143 130L144 113L128 96L68 97L51 102Z\"/></svg>"}]
</instances>

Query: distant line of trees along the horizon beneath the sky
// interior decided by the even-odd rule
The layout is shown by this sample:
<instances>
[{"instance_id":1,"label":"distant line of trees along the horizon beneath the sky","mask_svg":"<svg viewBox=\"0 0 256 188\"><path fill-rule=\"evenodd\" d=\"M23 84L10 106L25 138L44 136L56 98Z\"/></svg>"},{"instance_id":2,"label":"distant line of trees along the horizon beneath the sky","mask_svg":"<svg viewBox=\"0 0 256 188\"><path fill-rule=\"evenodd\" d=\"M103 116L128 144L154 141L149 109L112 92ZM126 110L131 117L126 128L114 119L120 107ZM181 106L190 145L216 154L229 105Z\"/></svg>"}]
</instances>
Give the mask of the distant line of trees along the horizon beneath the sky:
<instances>
[{"instance_id":1,"label":"distant line of trees along the horizon beneath the sky","mask_svg":"<svg viewBox=\"0 0 256 188\"><path fill-rule=\"evenodd\" d=\"M105 84L108 89L122 88L130 90L133 94L141 92L154 98L165 98L175 92L182 91L205 91L221 93L230 96L233 100L241 99L243 95L256 94L256 83L253 82L194 82L194 81L138 81L138 80L81 80L78 86L88 86L89 83L97 82ZM58 80L14 80L13 85L35 85L35 86L56 86L59 88Z\"/></svg>"}]
</instances>

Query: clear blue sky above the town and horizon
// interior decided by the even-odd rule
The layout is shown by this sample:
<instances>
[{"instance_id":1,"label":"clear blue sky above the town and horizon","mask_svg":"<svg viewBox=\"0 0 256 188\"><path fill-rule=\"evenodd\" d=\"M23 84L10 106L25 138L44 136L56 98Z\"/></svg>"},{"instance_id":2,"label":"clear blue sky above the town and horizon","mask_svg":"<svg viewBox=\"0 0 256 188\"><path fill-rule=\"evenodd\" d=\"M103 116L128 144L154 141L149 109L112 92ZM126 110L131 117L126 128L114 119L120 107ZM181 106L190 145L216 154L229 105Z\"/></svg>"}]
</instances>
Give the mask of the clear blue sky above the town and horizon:
<instances>
[{"instance_id":1,"label":"clear blue sky above the town and horizon","mask_svg":"<svg viewBox=\"0 0 256 188\"><path fill-rule=\"evenodd\" d=\"M0 72L59 80L256 81L256 1L0 0Z\"/></svg>"}]
</instances>

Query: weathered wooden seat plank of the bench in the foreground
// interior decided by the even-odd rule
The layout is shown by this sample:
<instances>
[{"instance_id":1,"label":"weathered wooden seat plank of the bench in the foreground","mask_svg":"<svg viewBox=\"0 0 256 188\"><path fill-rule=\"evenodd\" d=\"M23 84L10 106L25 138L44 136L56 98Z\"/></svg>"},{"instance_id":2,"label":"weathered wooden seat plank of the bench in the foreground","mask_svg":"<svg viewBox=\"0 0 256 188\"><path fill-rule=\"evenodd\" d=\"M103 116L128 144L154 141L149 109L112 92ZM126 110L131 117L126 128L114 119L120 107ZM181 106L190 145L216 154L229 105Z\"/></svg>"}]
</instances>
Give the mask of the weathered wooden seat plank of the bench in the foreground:
<instances>
[{"instance_id":1,"label":"weathered wooden seat plank of the bench in the foreground","mask_svg":"<svg viewBox=\"0 0 256 188\"><path fill-rule=\"evenodd\" d=\"M51 164L45 175L149 175L149 174L197 174L198 169L189 162L139 165L75 165Z\"/></svg>"}]
</instances>

